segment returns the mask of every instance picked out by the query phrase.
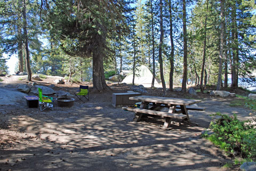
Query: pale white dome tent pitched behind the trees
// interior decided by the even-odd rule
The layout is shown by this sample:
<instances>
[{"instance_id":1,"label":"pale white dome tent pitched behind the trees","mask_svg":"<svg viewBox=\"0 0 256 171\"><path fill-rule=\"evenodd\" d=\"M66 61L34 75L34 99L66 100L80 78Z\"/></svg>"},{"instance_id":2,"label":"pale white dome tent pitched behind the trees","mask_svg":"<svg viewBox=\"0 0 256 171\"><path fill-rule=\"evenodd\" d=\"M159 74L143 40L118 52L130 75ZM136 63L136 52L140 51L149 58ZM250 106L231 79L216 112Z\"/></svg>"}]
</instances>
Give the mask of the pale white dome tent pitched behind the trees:
<instances>
[{"instance_id":1,"label":"pale white dome tent pitched behind the trees","mask_svg":"<svg viewBox=\"0 0 256 171\"><path fill-rule=\"evenodd\" d=\"M122 83L132 84L133 72L126 76ZM140 66L135 69L134 84L151 87L153 74L146 66ZM155 87L162 87L161 81L155 77Z\"/></svg>"}]
</instances>

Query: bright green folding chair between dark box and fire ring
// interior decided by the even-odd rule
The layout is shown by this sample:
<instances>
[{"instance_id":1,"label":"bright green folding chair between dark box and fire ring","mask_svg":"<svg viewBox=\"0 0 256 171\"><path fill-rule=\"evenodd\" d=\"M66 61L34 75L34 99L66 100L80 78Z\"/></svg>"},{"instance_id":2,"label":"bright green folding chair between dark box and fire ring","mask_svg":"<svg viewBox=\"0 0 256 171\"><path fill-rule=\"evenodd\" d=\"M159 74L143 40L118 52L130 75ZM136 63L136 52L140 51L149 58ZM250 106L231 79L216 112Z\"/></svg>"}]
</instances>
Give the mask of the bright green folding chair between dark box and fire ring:
<instances>
[{"instance_id":1,"label":"bright green folding chair between dark box and fire ring","mask_svg":"<svg viewBox=\"0 0 256 171\"><path fill-rule=\"evenodd\" d=\"M43 95L41 88L38 88L38 95L38 108L40 108L41 111L45 110L46 108L53 110L53 97Z\"/></svg>"}]
</instances>

